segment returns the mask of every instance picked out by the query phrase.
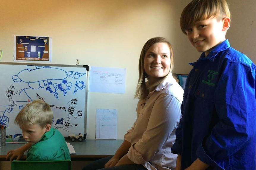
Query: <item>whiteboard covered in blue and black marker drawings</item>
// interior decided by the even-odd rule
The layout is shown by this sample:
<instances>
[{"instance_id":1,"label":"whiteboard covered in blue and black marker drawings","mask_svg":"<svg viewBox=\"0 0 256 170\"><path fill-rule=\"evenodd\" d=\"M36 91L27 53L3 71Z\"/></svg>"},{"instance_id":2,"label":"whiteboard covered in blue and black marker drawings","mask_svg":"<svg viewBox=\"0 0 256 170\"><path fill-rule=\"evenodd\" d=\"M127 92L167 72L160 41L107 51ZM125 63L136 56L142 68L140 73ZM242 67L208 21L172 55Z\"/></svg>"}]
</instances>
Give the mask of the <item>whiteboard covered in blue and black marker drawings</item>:
<instances>
[{"instance_id":1,"label":"whiteboard covered in blue and black marker drawings","mask_svg":"<svg viewBox=\"0 0 256 170\"><path fill-rule=\"evenodd\" d=\"M50 104L52 127L64 137L86 138L87 83L89 66L0 63L0 124L6 134L22 134L14 124L19 111L37 99Z\"/></svg>"}]
</instances>

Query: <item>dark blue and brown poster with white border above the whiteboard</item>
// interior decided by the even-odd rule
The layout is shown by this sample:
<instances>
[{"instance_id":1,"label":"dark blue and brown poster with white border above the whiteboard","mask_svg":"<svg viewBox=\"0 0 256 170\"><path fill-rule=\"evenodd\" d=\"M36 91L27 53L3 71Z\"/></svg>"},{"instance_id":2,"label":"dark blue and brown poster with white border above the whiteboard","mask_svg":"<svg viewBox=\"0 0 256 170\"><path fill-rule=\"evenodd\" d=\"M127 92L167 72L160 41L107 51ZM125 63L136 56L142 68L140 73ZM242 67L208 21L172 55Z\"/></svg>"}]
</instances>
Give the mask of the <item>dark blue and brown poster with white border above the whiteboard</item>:
<instances>
[{"instance_id":1,"label":"dark blue and brown poster with white border above the whiteboard","mask_svg":"<svg viewBox=\"0 0 256 170\"><path fill-rule=\"evenodd\" d=\"M52 38L14 35L14 61L52 61Z\"/></svg>"}]
</instances>

